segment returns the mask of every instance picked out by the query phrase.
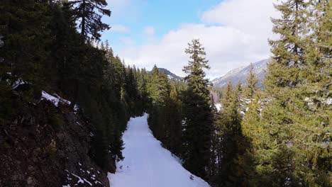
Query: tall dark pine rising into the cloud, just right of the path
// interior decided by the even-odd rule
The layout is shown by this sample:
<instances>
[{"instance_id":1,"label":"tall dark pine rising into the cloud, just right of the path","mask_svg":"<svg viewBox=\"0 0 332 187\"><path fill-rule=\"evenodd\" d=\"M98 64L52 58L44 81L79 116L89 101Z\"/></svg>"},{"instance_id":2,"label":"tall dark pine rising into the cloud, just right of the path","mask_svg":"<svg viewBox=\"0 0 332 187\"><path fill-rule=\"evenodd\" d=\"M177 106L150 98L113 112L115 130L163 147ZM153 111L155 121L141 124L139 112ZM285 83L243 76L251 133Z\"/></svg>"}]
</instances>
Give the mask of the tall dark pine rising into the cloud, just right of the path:
<instances>
[{"instance_id":1,"label":"tall dark pine rising into the cloud, just right of the path","mask_svg":"<svg viewBox=\"0 0 332 187\"><path fill-rule=\"evenodd\" d=\"M204 47L199 40L192 40L185 50L190 55L189 64L183 71L187 90L183 93L184 167L193 174L207 177L211 147L213 112L208 89L209 80L204 69L209 69Z\"/></svg>"}]
</instances>

